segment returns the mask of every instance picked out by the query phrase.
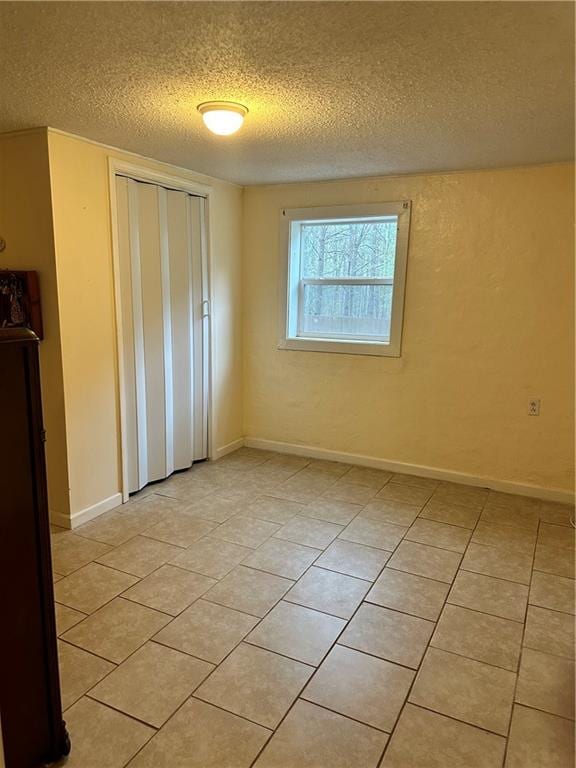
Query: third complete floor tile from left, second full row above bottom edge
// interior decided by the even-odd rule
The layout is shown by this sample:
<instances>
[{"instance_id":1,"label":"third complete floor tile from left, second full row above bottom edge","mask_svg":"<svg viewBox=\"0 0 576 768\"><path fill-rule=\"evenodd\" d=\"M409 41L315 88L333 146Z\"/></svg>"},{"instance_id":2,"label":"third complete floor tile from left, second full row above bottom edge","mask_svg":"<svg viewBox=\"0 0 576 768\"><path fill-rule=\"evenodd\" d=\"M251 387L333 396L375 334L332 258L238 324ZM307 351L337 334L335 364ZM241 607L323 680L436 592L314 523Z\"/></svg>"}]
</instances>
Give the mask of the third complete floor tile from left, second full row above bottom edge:
<instances>
[{"instance_id":1,"label":"third complete floor tile from left, second full row above bottom edge","mask_svg":"<svg viewBox=\"0 0 576 768\"><path fill-rule=\"evenodd\" d=\"M317 666L345 626L346 622L335 616L282 600L246 642Z\"/></svg>"}]
</instances>

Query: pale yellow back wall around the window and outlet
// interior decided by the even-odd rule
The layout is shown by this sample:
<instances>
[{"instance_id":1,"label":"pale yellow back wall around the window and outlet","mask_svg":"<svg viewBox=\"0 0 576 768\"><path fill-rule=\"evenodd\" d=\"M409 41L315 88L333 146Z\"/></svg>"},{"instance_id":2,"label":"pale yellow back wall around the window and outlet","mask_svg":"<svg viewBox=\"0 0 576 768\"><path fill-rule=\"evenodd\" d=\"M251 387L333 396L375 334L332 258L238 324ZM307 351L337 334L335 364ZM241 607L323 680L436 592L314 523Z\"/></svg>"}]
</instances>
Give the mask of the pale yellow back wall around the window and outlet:
<instances>
[{"instance_id":1,"label":"pale yellow back wall around the window and outlet","mask_svg":"<svg viewBox=\"0 0 576 768\"><path fill-rule=\"evenodd\" d=\"M568 165L245 190L245 434L573 488L573 193ZM406 198L402 357L278 350L280 209Z\"/></svg>"}]
</instances>

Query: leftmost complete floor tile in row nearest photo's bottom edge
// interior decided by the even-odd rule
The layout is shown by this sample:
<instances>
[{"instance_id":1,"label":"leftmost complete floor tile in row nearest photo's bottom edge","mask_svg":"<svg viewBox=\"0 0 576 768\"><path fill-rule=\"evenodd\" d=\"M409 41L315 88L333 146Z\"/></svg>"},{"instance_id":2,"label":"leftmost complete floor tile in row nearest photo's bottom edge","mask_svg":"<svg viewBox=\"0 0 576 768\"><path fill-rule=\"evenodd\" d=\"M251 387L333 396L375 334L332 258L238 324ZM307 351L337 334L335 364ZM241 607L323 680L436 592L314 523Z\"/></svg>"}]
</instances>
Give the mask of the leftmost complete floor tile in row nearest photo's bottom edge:
<instances>
[{"instance_id":1,"label":"leftmost complete floor tile in row nearest photo's bottom edge","mask_svg":"<svg viewBox=\"0 0 576 768\"><path fill-rule=\"evenodd\" d=\"M90 691L90 697L160 728L215 667L146 643Z\"/></svg>"}]
</instances>

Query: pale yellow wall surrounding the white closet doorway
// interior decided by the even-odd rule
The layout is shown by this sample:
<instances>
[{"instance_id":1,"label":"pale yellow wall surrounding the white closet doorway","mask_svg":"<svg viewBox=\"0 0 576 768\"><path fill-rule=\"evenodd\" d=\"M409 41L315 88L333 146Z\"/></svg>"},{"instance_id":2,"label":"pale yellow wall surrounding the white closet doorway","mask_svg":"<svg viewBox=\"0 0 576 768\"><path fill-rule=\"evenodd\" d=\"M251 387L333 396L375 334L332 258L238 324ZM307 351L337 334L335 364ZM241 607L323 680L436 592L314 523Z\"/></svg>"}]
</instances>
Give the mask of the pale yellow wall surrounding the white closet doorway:
<instances>
[{"instance_id":1,"label":"pale yellow wall surrounding the white closet doorway","mask_svg":"<svg viewBox=\"0 0 576 768\"><path fill-rule=\"evenodd\" d=\"M49 131L72 515L121 489L108 158L213 185L213 444L242 436L242 190Z\"/></svg>"}]
</instances>

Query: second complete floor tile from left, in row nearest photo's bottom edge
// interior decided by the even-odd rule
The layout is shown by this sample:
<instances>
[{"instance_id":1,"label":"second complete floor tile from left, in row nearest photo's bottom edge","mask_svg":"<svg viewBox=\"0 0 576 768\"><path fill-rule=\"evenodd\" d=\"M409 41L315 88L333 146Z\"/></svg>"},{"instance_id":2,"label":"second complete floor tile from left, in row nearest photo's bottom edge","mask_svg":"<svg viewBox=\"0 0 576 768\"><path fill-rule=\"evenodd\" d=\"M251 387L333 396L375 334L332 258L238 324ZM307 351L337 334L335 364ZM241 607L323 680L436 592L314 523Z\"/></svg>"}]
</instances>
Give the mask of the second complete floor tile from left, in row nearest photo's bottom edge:
<instances>
[{"instance_id":1,"label":"second complete floor tile from left, in row nearest photo's bottom edge","mask_svg":"<svg viewBox=\"0 0 576 768\"><path fill-rule=\"evenodd\" d=\"M276 728L313 667L241 643L194 694L196 698Z\"/></svg>"}]
</instances>

